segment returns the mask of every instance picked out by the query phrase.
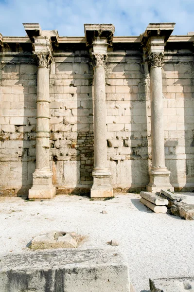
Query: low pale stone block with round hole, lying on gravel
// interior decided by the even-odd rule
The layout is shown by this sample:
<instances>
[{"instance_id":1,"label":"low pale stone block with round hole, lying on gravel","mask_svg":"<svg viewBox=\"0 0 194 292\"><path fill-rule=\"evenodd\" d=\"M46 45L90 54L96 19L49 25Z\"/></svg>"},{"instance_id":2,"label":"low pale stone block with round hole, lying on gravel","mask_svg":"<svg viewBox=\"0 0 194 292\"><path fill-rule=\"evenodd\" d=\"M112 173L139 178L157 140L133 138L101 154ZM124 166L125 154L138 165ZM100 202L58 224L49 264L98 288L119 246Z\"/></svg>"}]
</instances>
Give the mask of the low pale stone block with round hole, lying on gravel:
<instances>
[{"instance_id":1,"label":"low pale stone block with round hole, lying on gravel","mask_svg":"<svg viewBox=\"0 0 194 292\"><path fill-rule=\"evenodd\" d=\"M51 231L34 237L32 239L31 248L76 248L80 238L81 235L77 235L75 232Z\"/></svg>"}]
</instances>

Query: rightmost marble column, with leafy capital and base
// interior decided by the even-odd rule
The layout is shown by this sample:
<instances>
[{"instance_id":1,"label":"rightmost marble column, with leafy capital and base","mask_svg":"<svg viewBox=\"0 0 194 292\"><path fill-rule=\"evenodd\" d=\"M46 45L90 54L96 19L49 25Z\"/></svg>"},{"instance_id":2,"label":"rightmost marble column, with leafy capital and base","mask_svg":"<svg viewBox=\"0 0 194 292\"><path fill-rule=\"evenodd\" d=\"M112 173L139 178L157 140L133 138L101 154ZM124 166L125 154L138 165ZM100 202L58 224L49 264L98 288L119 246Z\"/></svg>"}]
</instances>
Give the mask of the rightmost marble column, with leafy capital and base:
<instances>
[{"instance_id":1,"label":"rightmost marble column, with leafy capital and base","mask_svg":"<svg viewBox=\"0 0 194 292\"><path fill-rule=\"evenodd\" d=\"M165 167L161 71L163 55L163 52L154 52L148 56L151 92L152 168L147 190L151 192L159 192L161 188L174 190L170 184L170 171Z\"/></svg>"}]
</instances>

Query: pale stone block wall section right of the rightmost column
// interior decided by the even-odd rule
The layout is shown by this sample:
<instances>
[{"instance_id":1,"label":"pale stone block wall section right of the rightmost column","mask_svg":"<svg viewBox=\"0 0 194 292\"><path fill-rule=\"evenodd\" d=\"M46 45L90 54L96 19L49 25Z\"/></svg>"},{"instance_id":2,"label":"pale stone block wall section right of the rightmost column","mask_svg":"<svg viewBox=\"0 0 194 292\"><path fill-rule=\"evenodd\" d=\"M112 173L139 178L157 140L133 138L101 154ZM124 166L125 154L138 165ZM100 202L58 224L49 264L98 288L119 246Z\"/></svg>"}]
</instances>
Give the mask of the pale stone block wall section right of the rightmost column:
<instances>
[{"instance_id":1,"label":"pale stone block wall section right of the rightmost column","mask_svg":"<svg viewBox=\"0 0 194 292\"><path fill-rule=\"evenodd\" d=\"M194 190L193 55L163 66L166 166L176 191Z\"/></svg>"}]
</instances>

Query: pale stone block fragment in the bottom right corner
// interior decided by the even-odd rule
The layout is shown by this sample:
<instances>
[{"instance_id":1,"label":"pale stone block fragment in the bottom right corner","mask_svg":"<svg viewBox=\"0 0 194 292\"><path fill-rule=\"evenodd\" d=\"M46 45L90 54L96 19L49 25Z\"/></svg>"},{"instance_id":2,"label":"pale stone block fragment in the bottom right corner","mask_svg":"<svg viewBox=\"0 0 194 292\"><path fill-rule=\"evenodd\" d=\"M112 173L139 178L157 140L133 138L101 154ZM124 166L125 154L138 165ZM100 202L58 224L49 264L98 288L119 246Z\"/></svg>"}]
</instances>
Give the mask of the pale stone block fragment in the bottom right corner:
<instances>
[{"instance_id":1,"label":"pale stone block fragment in the bottom right corner","mask_svg":"<svg viewBox=\"0 0 194 292\"><path fill-rule=\"evenodd\" d=\"M163 278L150 279L151 292L194 292L194 278Z\"/></svg>"}]
</instances>

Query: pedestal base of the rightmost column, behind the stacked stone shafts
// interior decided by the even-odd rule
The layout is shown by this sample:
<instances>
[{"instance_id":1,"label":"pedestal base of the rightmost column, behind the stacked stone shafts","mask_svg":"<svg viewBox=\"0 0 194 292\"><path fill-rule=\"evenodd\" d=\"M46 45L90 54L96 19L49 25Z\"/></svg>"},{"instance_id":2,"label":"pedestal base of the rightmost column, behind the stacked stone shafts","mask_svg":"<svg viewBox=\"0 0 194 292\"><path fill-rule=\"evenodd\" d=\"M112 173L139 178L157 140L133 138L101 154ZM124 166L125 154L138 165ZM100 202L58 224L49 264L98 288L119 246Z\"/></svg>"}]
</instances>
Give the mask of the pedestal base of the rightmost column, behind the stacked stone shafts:
<instances>
[{"instance_id":1,"label":"pedestal base of the rightmost column, behind the stacked stone shafts","mask_svg":"<svg viewBox=\"0 0 194 292\"><path fill-rule=\"evenodd\" d=\"M165 169L151 170L150 182L146 189L152 193L159 193L161 189L174 192L174 187L170 184L170 171Z\"/></svg>"}]
</instances>

